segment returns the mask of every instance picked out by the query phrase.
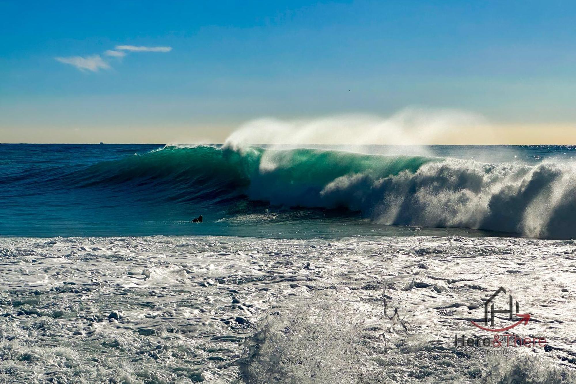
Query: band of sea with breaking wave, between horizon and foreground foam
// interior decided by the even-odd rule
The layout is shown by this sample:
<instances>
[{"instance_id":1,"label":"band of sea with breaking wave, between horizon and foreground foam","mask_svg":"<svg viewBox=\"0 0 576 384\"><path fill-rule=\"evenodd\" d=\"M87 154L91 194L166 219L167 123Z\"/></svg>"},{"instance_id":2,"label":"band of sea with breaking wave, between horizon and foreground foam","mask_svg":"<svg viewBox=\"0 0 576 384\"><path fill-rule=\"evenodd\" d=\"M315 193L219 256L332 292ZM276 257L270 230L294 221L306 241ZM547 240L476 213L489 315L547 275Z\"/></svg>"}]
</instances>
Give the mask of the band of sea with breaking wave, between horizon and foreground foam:
<instances>
[{"instance_id":1,"label":"band of sea with breaking wave, between horizon and foreground foam","mask_svg":"<svg viewBox=\"0 0 576 384\"><path fill-rule=\"evenodd\" d=\"M343 149L0 144L0 235L572 237L574 146Z\"/></svg>"}]
</instances>

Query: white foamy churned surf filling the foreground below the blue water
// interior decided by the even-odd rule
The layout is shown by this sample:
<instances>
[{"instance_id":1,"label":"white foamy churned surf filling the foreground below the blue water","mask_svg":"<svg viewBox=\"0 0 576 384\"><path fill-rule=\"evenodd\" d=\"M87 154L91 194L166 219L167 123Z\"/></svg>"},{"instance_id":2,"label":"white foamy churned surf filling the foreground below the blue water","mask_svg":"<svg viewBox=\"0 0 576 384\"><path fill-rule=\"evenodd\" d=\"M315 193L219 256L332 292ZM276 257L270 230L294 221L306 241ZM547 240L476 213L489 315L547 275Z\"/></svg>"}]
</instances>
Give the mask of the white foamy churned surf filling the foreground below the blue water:
<instances>
[{"instance_id":1,"label":"white foamy churned surf filling the foreground below the blue water","mask_svg":"<svg viewBox=\"0 0 576 384\"><path fill-rule=\"evenodd\" d=\"M574 382L573 241L3 238L0 381ZM498 287L547 348L462 347Z\"/></svg>"}]
</instances>

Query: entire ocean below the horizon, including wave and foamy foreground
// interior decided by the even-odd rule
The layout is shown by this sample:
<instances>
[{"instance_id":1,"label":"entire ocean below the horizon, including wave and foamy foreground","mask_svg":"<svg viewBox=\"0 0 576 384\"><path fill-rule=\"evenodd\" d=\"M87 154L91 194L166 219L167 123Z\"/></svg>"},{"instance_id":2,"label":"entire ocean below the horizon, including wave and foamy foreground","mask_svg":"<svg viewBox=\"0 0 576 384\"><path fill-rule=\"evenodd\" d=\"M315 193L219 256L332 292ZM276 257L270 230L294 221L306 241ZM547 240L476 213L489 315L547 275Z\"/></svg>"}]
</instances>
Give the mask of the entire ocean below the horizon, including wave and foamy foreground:
<instances>
[{"instance_id":1,"label":"entire ocean below the horizon, including wave and foamy foreground","mask_svg":"<svg viewBox=\"0 0 576 384\"><path fill-rule=\"evenodd\" d=\"M0 382L576 382L575 148L2 144Z\"/></svg>"}]
</instances>

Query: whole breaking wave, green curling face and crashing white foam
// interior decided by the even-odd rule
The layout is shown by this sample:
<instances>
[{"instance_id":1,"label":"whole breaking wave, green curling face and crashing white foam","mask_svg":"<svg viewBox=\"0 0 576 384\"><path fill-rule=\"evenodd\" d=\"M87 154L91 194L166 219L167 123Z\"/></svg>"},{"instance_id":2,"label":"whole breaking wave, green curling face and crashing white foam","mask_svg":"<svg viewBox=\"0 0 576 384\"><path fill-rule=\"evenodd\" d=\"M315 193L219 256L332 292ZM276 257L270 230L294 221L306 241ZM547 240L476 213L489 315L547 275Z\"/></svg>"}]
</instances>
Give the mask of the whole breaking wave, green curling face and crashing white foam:
<instances>
[{"instance_id":1,"label":"whole breaking wave, green curling face and crashing white foam","mask_svg":"<svg viewBox=\"0 0 576 384\"><path fill-rule=\"evenodd\" d=\"M51 170L43 178L57 189L105 187L150 204L263 201L345 208L382 224L576 237L576 167L552 161L486 164L306 148L166 146L81 169Z\"/></svg>"}]
</instances>

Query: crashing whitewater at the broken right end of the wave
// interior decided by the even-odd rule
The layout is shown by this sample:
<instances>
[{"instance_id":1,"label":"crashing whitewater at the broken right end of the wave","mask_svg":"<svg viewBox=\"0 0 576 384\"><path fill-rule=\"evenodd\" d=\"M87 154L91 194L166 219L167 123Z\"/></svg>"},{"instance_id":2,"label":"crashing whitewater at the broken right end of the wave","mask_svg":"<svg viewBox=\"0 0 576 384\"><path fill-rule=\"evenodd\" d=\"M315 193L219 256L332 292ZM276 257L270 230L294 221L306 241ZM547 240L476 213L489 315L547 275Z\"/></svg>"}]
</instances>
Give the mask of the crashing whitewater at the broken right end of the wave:
<instances>
[{"instance_id":1,"label":"crashing whitewater at the broken right end of the wave","mask_svg":"<svg viewBox=\"0 0 576 384\"><path fill-rule=\"evenodd\" d=\"M342 176L321 196L384 224L464 227L532 237L576 236L576 167L447 159L414 174Z\"/></svg>"}]
</instances>

